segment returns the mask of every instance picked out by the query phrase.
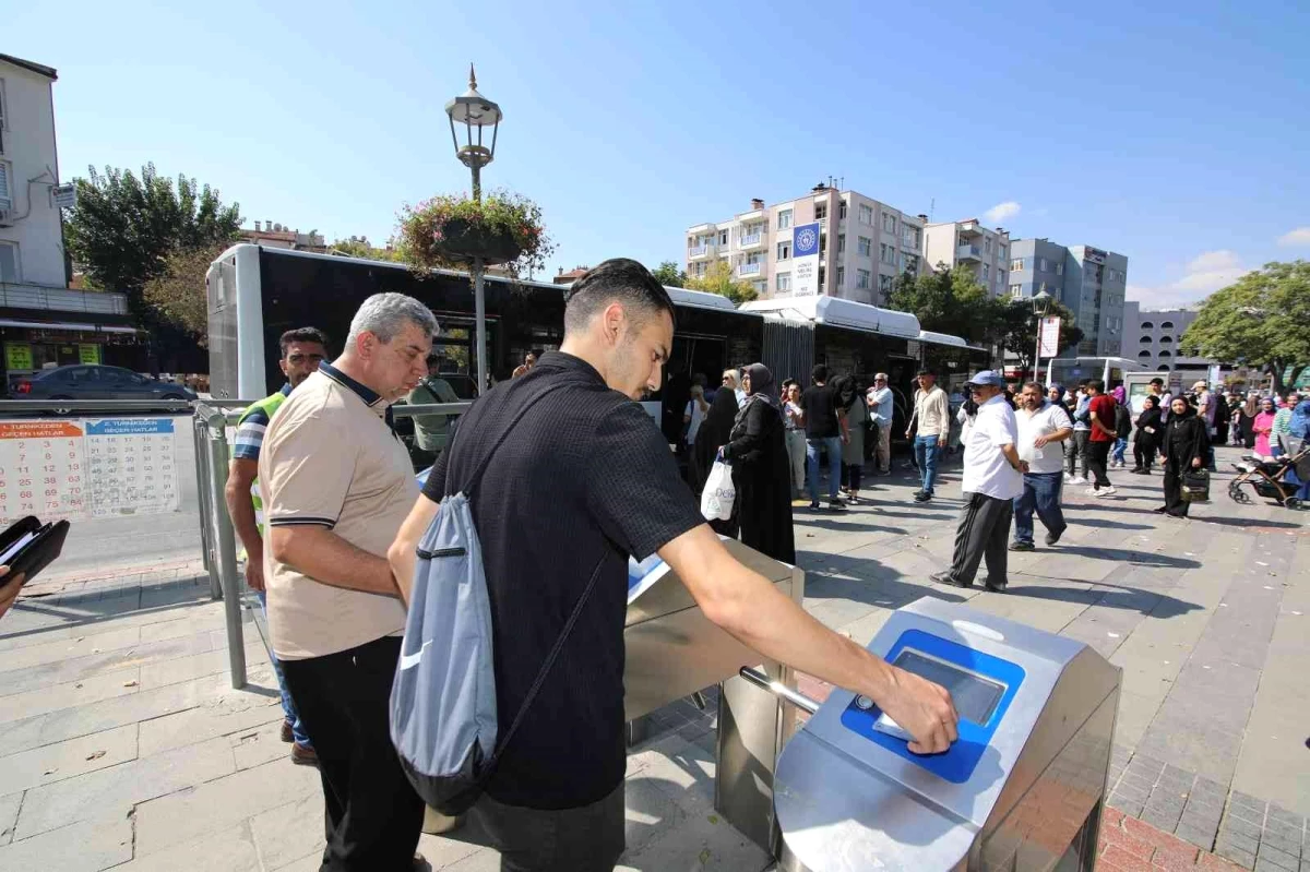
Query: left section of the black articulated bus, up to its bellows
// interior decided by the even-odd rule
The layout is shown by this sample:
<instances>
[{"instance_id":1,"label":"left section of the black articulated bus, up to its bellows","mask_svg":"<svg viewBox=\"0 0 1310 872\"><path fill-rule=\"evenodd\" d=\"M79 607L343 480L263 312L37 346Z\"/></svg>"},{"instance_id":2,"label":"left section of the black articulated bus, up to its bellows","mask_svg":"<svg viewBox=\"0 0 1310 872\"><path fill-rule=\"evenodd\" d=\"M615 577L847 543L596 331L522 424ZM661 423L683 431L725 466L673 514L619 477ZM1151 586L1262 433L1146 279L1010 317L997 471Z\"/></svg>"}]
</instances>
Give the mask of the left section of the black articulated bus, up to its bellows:
<instances>
[{"instance_id":1,"label":"left section of the black articulated bus, up to its bellows","mask_svg":"<svg viewBox=\"0 0 1310 872\"><path fill-rule=\"evenodd\" d=\"M426 302L441 333L434 351L443 378L465 399L476 394L477 343L469 275L435 270L415 275L398 263L236 245L206 276L210 316L210 390L217 398L265 397L282 385L278 336L314 326L339 350L359 305L394 291ZM503 381L529 351L563 339L567 288L541 282L486 279L487 373ZM668 288L677 331L667 376L705 372L760 359L764 318L738 312L726 297ZM715 382L717 384L717 382ZM658 420L660 397L647 403ZM677 427L681 428L679 415Z\"/></svg>"}]
</instances>

